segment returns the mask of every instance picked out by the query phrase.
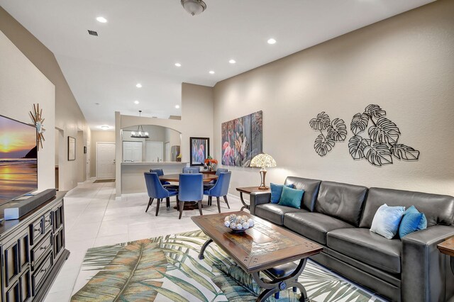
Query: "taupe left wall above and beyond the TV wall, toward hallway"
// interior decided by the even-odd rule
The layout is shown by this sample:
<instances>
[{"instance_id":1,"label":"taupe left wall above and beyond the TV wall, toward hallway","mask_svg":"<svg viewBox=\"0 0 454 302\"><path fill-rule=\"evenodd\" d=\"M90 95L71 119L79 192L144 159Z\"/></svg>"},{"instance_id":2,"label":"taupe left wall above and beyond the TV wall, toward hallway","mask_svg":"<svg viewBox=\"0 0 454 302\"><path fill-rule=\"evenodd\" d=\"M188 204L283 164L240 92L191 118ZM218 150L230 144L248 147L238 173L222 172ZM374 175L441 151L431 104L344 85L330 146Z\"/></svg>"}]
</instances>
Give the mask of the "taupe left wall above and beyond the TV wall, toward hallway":
<instances>
[{"instance_id":1,"label":"taupe left wall above and beyond the TV wall, toward hallway","mask_svg":"<svg viewBox=\"0 0 454 302\"><path fill-rule=\"evenodd\" d=\"M89 140L90 130L87 127L84 115L76 99L74 99L70 86L68 86L53 53L1 7L0 30L55 85L55 127L64 132L64 140L59 140L59 143L62 144L59 147L59 150L62 150L59 156L60 190L72 189L77 186L78 176L89 159L84 155L76 157L75 161L68 161L67 137L69 135L76 138L77 131L81 130L83 131L84 142ZM26 110L29 110L29 108L26 107ZM52 108L52 111L54 111L54 108ZM49 109L48 114L50 114ZM47 116L46 121L48 121L48 118L49 116ZM49 125L47 127L48 135L52 135L49 133L54 133L54 131L49 128ZM50 144L50 142L48 143Z\"/></svg>"}]
</instances>

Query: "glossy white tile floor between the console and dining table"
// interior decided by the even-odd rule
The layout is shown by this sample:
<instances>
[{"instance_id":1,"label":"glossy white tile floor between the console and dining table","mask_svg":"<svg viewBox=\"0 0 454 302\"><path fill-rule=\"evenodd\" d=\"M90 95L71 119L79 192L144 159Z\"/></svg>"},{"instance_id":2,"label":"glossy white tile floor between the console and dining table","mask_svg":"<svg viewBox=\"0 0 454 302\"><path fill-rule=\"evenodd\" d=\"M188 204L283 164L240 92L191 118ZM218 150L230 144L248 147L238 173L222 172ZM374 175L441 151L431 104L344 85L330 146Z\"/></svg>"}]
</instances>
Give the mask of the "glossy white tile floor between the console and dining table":
<instances>
[{"instance_id":1,"label":"glossy white tile floor between the console and dining table","mask_svg":"<svg viewBox=\"0 0 454 302\"><path fill-rule=\"evenodd\" d=\"M85 252L90 247L110 245L119 242L139 240L172 233L197 230L191 216L198 216L199 210L184 211L178 220L175 198L171 208L161 203L159 216L155 216L155 202L145 213L148 203L146 194L115 198L114 183L94 184L86 181L72 189L65 196L66 248L71 255L55 279L46 302L70 301L72 292L83 284L75 284ZM206 206L204 213L218 213L216 199L213 206ZM238 198L228 197L231 210L221 198L221 211L239 211Z\"/></svg>"}]
</instances>

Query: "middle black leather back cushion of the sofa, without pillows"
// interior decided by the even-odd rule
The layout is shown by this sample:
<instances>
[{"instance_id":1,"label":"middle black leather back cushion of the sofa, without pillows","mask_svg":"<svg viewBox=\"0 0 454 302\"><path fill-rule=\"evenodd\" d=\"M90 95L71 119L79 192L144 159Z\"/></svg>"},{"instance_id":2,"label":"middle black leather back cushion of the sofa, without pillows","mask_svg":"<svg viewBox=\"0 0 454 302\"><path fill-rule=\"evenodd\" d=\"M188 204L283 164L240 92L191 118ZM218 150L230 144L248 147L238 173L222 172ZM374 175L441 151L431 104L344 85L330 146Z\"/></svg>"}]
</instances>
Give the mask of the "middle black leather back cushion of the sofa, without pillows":
<instances>
[{"instance_id":1,"label":"middle black leather back cushion of the sofa, without pillows","mask_svg":"<svg viewBox=\"0 0 454 302\"><path fill-rule=\"evenodd\" d=\"M333 216L357 227L360 224L366 194L365 186L321 181L314 211Z\"/></svg>"}]
</instances>

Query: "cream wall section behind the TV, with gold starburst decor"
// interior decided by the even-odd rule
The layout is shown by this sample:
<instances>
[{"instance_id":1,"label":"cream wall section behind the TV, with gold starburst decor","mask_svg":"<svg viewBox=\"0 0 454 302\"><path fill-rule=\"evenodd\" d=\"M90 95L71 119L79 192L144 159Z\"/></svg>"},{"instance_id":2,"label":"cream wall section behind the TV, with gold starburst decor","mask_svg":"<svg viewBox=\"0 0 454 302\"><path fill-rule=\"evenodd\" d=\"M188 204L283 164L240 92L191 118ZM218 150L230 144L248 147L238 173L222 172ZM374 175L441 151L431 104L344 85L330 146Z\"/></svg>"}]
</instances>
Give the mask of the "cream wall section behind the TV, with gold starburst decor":
<instances>
[{"instance_id":1,"label":"cream wall section behind the TV, with gold starburst decor","mask_svg":"<svg viewBox=\"0 0 454 302\"><path fill-rule=\"evenodd\" d=\"M55 86L1 31L0 54L0 114L32 123L28 111L40 104L48 131L38 152L38 191L55 188Z\"/></svg>"}]
</instances>

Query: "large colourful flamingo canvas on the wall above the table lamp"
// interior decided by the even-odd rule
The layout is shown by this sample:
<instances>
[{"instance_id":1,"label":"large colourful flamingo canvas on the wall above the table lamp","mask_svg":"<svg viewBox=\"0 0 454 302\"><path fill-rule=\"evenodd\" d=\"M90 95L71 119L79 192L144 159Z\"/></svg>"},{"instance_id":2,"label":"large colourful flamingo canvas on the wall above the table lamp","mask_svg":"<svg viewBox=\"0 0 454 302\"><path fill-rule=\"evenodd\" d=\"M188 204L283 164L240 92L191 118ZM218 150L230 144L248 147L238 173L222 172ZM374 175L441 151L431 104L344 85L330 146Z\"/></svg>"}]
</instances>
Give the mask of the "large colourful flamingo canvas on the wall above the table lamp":
<instances>
[{"instance_id":1,"label":"large colourful flamingo canvas on the wall above the table lamp","mask_svg":"<svg viewBox=\"0 0 454 302\"><path fill-rule=\"evenodd\" d=\"M262 111L222 123L222 164L249 167L250 161L262 153Z\"/></svg>"}]
</instances>

